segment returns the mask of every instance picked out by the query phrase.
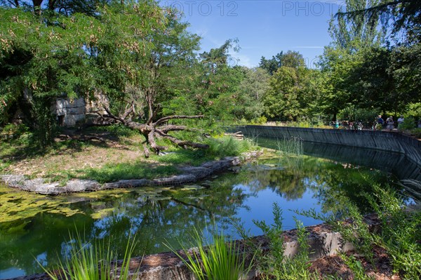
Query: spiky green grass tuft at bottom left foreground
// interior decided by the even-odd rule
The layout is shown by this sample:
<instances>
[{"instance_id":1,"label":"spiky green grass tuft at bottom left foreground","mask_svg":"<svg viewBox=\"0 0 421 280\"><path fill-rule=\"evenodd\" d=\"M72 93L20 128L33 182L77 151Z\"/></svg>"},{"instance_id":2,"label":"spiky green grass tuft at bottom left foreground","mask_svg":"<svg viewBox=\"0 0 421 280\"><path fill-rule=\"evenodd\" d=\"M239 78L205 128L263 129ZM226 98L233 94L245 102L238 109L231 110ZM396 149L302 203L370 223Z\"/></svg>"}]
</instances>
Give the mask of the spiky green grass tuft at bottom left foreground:
<instances>
[{"instance_id":1,"label":"spiky green grass tuft at bottom left foreground","mask_svg":"<svg viewBox=\"0 0 421 280\"><path fill-rule=\"evenodd\" d=\"M39 265L54 280L112 280L129 279L130 259L135 248L135 236L128 236L126 250L122 256L121 269L116 266L119 256L112 251L110 243L104 241L85 241L79 232L70 236L70 256L64 263L60 261L58 270L48 270ZM131 279L131 278L130 278Z\"/></svg>"}]
</instances>

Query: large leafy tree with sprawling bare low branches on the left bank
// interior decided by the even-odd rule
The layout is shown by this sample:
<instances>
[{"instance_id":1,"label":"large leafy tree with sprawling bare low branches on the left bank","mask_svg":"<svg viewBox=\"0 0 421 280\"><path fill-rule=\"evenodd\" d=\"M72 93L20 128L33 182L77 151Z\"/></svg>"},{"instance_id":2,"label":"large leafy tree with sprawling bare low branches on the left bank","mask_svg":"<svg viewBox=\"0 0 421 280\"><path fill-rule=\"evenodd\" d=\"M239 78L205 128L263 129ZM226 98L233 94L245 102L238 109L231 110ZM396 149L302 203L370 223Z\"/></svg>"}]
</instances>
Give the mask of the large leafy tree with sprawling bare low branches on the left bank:
<instances>
[{"instance_id":1,"label":"large leafy tree with sprawling bare low branches on the left bank","mask_svg":"<svg viewBox=\"0 0 421 280\"><path fill-rule=\"evenodd\" d=\"M145 156L148 145L154 152L166 149L156 138L206 148L169 134L188 129L172 120L202 115L165 116L161 106L177 98L174 81L196 62L199 36L186 31L176 11L155 1L109 2L94 16L1 9L0 109L10 111L25 90L34 115L36 102L45 107L62 93L86 100L100 96L107 101L99 103L103 123L118 122L144 135Z\"/></svg>"}]
</instances>

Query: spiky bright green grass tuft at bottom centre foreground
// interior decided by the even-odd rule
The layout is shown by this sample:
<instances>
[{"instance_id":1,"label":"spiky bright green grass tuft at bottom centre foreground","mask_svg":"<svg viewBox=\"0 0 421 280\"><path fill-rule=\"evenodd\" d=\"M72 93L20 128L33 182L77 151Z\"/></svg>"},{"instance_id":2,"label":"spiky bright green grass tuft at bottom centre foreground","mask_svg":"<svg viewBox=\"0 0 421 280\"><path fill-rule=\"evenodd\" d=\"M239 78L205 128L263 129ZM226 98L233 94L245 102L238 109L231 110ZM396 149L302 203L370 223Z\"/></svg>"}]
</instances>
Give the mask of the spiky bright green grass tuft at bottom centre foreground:
<instances>
[{"instance_id":1,"label":"spiky bright green grass tuft at bottom centre foreground","mask_svg":"<svg viewBox=\"0 0 421 280\"><path fill-rule=\"evenodd\" d=\"M226 241L223 232L212 234L212 244L203 244L203 232L195 230L194 242L188 247L182 247L185 255L183 257L171 246L168 248L175 253L185 263L190 271L194 273L198 280L239 280L248 274L252 267L253 258L250 265L246 265L246 251L241 249L234 241ZM189 250L195 247L197 249Z\"/></svg>"}]
</instances>

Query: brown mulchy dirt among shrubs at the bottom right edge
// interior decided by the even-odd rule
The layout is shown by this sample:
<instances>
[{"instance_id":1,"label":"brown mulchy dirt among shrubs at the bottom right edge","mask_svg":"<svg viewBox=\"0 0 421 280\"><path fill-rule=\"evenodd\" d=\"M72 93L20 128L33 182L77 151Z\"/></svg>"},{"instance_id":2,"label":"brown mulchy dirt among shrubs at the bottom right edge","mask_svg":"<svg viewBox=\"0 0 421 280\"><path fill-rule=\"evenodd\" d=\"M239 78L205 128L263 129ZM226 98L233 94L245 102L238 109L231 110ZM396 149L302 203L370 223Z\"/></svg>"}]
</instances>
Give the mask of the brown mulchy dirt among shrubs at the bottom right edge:
<instances>
[{"instance_id":1,"label":"brown mulchy dirt among shrubs at the bottom right edge","mask_svg":"<svg viewBox=\"0 0 421 280\"><path fill-rule=\"evenodd\" d=\"M361 262L361 265L363 265L364 270L366 271L366 275L372 277L375 280L402 279L399 274L395 274L392 271L392 263L390 262L389 256L383 248L377 247L373 250L373 253L373 264L355 252L348 252L347 255L353 255L356 260ZM319 274L320 279L326 279L328 275L332 275L335 276L335 279L358 280L339 255L333 255L315 260L312 262L310 271Z\"/></svg>"}]
</instances>

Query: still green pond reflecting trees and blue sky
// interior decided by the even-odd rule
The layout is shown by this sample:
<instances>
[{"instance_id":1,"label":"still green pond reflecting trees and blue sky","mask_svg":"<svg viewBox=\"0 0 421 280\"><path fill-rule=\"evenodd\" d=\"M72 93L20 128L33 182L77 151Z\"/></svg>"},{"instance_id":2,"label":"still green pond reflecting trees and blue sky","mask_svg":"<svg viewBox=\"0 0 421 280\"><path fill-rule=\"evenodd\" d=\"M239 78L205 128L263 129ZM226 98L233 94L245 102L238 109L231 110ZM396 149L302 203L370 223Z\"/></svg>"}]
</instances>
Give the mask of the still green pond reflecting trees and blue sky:
<instances>
[{"instance_id":1,"label":"still green pond reflecting trees and blue sky","mask_svg":"<svg viewBox=\"0 0 421 280\"><path fill-rule=\"evenodd\" d=\"M277 140L260 145L282 149ZM168 251L165 244L180 247L194 228L206 232L213 223L232 238L239 238L233 226L239 221L250 235L262 234L253 220L271 224L275 202L283 209L284 229L295 227L293 216L304 225L321 222L293 211L334 211L333 197L347 196L370 211L361 193L374 184L396 187L411 203L414 194L396 182L420 180L420 166L404 161L399 154L303 143L298 154L277 152L182 187L40 196L0 185L0 279L42 272L38 262L57 264L69 253L69 234L76 229L86 239L110 238L115 248L135 232L135 255L146 255Z\"/></svg>"}]
</instances>

